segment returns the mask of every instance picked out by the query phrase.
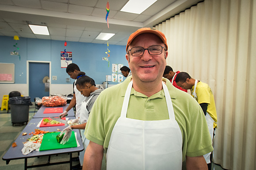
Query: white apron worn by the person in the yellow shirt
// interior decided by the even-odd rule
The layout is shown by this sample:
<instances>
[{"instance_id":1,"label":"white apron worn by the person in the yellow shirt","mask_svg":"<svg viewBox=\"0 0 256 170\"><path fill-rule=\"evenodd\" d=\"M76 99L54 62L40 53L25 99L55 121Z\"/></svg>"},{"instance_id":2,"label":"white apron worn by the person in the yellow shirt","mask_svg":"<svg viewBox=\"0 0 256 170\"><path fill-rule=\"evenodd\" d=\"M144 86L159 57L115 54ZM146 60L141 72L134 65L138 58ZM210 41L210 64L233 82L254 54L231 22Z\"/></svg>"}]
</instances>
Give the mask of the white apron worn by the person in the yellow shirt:
<instances>
[{"instance_id":1,"label":"white apron worn by the person in the yellow shirt","mask_svg":"<svg viewBox=\"0 0 256 170\"><path fill-rule=\"evenodd\" d=\"M196 85L197 85L197 80L195 81L195 86L194 86L194 91L193 91L193 95L194 95L194 98L196 99L197 98L197 95L196 95ZM212 141L212 138L213 138L213 123L214 123L214 120L211 118L211 116L206 112L206 115L205 115L205 119L206 119L206 122L207 122L207 126L208 126L208 130L209 130L209 133L210 133L210 136L211 136L211 141ZM211 156L211 152L203 155L206 163L211 163L211 160L210 160L210 156Z\"/></svg>"}]
</instances>

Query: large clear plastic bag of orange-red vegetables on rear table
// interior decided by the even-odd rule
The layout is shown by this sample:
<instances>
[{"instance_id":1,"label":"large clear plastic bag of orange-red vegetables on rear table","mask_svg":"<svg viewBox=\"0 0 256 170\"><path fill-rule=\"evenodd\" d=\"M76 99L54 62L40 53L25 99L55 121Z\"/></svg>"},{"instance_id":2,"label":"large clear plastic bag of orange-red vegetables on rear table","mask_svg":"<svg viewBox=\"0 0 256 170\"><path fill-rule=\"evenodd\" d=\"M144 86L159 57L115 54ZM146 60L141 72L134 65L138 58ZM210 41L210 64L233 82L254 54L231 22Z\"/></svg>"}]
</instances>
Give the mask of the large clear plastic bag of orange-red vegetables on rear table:
<instances>
[{"instance_id":1,"label":"large clear plastic bag of orange-red vegetables on rear table","mask_svg":"<svg viewBox=\"0 0 256 170\"><path fill-rule=\"evenodd\" d=\"M45 96L42 98L42 105L45 107L64 106L67 104L65 96Z\"/></svg>"}]
</instances>

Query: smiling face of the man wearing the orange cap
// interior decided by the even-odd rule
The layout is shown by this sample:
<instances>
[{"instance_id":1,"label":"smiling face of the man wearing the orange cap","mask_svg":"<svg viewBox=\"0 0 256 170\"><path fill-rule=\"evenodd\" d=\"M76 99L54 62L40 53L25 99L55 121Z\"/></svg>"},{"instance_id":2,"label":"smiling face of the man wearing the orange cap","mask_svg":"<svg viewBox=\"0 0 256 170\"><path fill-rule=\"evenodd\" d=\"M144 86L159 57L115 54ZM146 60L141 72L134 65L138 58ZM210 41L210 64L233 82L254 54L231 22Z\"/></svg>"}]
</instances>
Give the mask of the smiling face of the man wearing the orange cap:
<instances>
[{"instance_id":1,"label":"smiling face of the man wearing the orange cap","mask_svg":"<svg viewBox=\"0 0 256 170\"><path fill-rule=\"evenodd\" d=\"M132 47L148 48L154 45L161 45L162 47L165 47L164 43L157 35L152 33L143 33L132 41L128 49L131 49ZM133 80L148 83L162 81L168 51L163 49L162 54L151 55L147 50L145 50L144 54L139 57L132 56L130 52L125 56L129 62L129 68L131 69Z\"/></svg>"}]
</instances>

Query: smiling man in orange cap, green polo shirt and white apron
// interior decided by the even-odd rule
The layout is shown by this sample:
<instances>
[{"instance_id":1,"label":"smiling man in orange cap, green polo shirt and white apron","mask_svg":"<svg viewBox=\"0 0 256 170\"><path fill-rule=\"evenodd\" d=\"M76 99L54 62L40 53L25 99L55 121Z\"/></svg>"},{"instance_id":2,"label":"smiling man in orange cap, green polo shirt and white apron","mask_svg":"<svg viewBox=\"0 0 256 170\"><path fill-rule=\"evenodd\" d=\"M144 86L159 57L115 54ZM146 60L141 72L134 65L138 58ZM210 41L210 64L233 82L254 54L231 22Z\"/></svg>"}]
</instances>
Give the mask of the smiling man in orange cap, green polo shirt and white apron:
<instances>
[{"instance_id":1,"label":"smiling man in orange cap, green polo shirt and white apron","mask_svg":"<svg viewBox=\"0 0 256 170\"><path fill-rule=\"evenodd\" d=\"M200 105L162 78L168 56L165 35L138 29L125 55L132 76L99 95L87 121L83 168L100 170L207 170L213 150Z\"/></svg>"}]
</instances>

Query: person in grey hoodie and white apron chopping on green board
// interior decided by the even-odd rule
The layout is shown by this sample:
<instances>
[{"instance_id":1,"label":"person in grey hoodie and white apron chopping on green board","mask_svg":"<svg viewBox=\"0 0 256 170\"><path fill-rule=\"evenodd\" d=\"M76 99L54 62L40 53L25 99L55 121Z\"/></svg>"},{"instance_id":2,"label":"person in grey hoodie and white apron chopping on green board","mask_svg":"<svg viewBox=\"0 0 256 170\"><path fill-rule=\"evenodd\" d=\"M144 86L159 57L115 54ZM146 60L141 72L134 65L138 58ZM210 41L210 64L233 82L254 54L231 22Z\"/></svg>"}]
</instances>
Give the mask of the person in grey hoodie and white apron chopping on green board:
<instances>
[{"instance_id":1,"label":"person in grey hoodie and white apron chopping on green board","mask_svg":"<svg viewBox=\"0 0 256 170\"><path fill-rule=\"evenodd\" d=\"M74 166L73 169L82 169L81 165L83 165L84 152L90 142L88 139L86 139L84 135L84 129L86 127L86 123L89 118L92 105L94 104L94 101L96 100L98 95L102 92L103 87L101 86L96 87L94 80L88 76L83 75L83 72L82 72L82 75L78 76L76 87L79 90L79 93L83 94L83 96L86 97L85 101L83 101L81 104L80 117L78 119L79 125L72 125L72 126L66 127L62 131L62 133L65 133L65 134L60 144L64 145L69 140L72 129L79 129L84 150L79 154L80 164L78 164L77 166ZM74 122L75 121L76 120L74 120Z\"/></svg>"}]
</instances>

